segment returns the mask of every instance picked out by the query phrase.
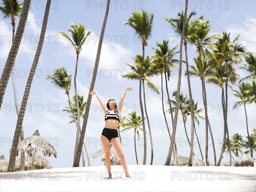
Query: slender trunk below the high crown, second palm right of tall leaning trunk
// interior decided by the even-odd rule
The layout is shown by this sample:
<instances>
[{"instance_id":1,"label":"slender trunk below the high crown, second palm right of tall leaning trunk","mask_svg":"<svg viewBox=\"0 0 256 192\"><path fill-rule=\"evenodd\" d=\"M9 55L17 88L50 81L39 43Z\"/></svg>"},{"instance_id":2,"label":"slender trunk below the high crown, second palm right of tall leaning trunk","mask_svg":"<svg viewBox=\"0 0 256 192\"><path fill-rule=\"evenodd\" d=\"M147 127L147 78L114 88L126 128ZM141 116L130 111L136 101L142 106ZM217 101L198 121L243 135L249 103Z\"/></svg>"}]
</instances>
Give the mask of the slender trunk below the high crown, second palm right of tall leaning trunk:
<instances>
[{"instance_id":1,"label":"slender trunk below the high crown, second palm right of tall leaning trunk","mask_svg":"<svg viewBox=\"0 0 256 192\"><path fill-rule=\"evenodd\" d=\"M205 162L206 165L209 166L209 159L208 159L208 113L207 113L207 97L206 97L206 88L205 88L205 81L204 81L204 71L203 71L203 64L202 64L202 56L201 56L201 47L198 47L199 51L199 58L200 58L200 65L201 65L201 77L203 83L203 102L204 102L204 115L205 115Z\"/></svg>"}]
</instances>

